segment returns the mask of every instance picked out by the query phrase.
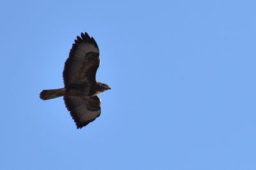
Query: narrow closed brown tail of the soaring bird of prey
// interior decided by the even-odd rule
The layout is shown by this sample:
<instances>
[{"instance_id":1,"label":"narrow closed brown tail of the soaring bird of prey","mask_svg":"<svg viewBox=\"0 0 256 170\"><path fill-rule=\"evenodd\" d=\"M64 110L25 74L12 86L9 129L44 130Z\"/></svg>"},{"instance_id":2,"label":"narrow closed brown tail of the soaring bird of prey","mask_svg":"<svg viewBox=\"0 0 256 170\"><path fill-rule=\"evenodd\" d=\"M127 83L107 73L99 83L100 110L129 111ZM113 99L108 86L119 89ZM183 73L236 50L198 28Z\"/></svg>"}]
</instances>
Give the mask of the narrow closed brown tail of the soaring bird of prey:
<instances>
[{"instance_id":1,"label":"narrow closed brown tail of the soaring bird of prey","mask_svg":"<svg viewBox=\"0 0 256 170\"><path fill-rule=\"evenodd\" d=\"M65 94L66 89L51 89L51 90L42 90L40 93L40 99L42 100L48 100L48 99L53 99L56 97L61 97Z\"/></svg>"}]
</instances>

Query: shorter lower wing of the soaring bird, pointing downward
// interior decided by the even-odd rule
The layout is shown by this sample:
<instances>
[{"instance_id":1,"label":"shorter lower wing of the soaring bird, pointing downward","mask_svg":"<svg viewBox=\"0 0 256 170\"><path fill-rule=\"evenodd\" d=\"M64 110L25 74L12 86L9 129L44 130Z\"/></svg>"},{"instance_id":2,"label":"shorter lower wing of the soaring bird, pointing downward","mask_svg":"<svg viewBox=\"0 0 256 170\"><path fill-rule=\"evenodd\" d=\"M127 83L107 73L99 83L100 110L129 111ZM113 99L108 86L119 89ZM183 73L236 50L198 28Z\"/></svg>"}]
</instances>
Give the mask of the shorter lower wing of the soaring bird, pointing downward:
<instances>
[{"instance_id":1,"label":"shorter lower wing of the soaring bird, pointing downward","mask_svg":"<svg viewBox=\"0 0 256 170\"><path fill-rule=\"evenodd\" d=\"M100 98L92 97L70 97L65 96L64 101L77 129L88 125L100 116Z\"/></svg>"}]
</instances>

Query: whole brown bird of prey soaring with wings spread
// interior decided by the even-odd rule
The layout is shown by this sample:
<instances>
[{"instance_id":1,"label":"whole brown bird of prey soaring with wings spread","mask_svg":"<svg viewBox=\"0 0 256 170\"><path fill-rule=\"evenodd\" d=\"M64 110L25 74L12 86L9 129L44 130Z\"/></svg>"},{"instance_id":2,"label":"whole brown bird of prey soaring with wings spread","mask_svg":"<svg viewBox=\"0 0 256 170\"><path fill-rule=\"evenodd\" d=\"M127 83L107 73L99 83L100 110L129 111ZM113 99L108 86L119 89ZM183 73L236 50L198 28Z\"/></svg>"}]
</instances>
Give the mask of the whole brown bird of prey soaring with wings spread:
<instances>
[{"instance_id":1,"label":"whole brown bird of prey soaring with wings spread","mask_svg":"<svg viewBox=\"0 0 256 170\"><path fill-rule=\"evenodd\" d=\"M111 89L105 83L96 81L100 65L99 47L87 32L77 36L72 45L63 70L64 88L42 90L40 99L48 100L63 96L67 110L77 129L88 125L100 116L98 94Z\"/></svg>"}]
</instances>

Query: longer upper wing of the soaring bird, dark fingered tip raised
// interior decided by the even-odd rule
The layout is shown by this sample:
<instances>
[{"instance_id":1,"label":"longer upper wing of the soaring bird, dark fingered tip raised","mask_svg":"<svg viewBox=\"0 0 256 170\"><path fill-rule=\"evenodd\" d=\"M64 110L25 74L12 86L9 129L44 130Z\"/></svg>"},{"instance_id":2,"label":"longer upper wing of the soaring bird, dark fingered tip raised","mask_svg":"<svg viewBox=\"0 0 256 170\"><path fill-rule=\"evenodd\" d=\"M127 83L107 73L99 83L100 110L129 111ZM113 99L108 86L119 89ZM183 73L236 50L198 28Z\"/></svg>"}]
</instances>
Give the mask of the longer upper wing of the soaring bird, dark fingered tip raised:
<instances>
[{"instance_id":1,"label":"longer upper wing of the soaring bird, dark fingered tip raised","mask_svg":"<svg viewBox=\"0 0 256 170\"><path fill-rule=\"evenodd\" d=\"M96 41L86 32L82 32L81 37L77 36L65 62L63 71L65 87L72 83L96 81L95 76L99 65L99 48Z\"/></svg>"}]
</instances>

